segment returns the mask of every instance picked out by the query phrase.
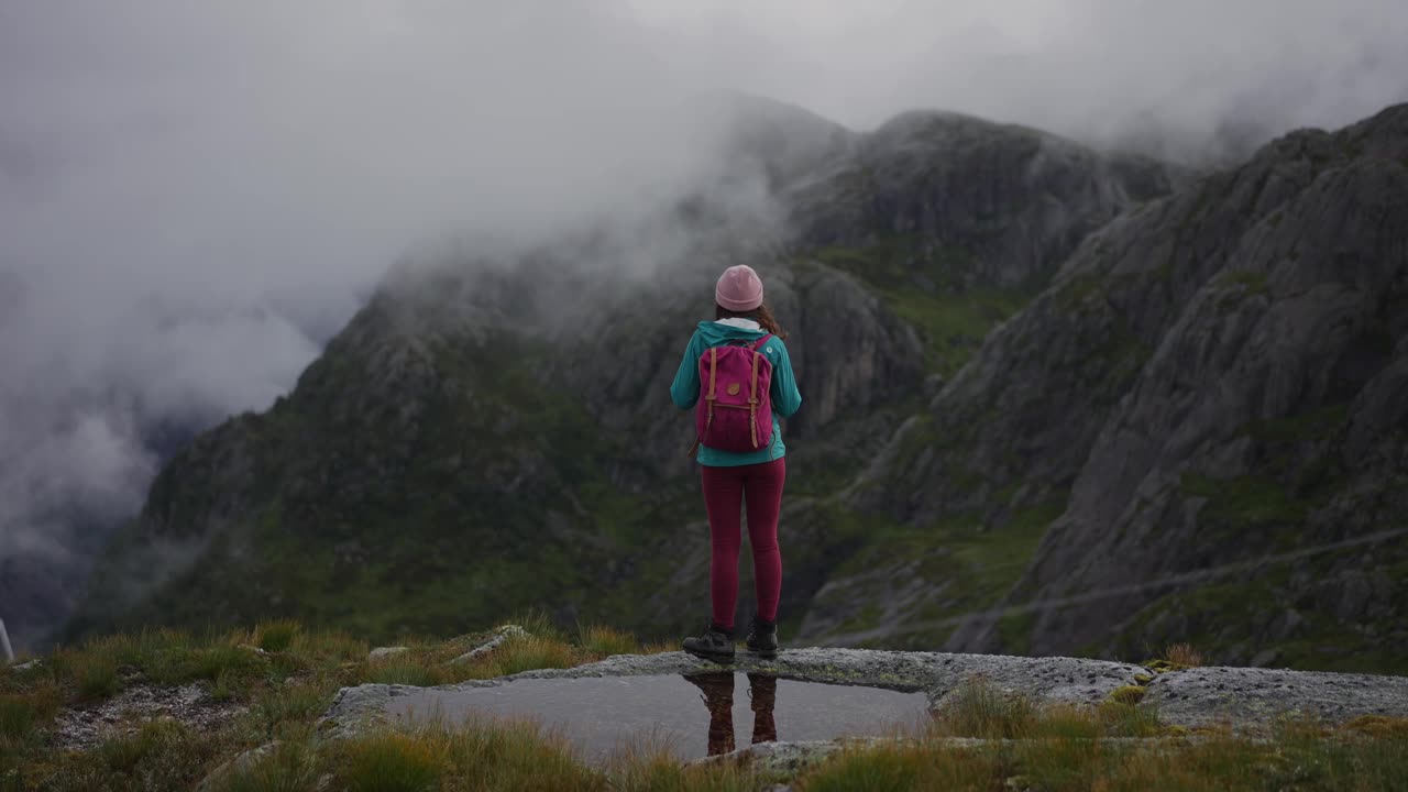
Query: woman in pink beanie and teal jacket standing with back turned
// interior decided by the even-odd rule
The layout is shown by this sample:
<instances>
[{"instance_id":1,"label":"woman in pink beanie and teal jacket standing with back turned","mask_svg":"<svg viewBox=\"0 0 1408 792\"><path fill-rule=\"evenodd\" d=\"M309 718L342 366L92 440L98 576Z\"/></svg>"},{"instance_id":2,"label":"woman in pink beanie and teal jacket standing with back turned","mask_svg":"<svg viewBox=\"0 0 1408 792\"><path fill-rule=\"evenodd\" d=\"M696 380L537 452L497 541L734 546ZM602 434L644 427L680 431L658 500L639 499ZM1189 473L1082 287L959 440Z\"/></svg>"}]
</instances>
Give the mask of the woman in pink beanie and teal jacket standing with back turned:
<instances>
[{"instance_id":1,"label":"woman in pink beanie and teal jacket standing with back turned","mask_svg":"<svg viewBox=\"0 0 1408 792\"><path fill-rule=\"evenodd\" d=\"M684 349L670 397L696 409L697 457L704 486L712 554L710 595L714 617L704 634L684 640L684 651L734 660L734 606L738 602L741 513L748 505L758 614L748 651L777 655L777 600L783 558L777 548L787 466L781 426L801 406L783 333L763 302L763 282L746 265L731 266L714 287L714 321L701 321Z\"/></svg>"}]
</instances>

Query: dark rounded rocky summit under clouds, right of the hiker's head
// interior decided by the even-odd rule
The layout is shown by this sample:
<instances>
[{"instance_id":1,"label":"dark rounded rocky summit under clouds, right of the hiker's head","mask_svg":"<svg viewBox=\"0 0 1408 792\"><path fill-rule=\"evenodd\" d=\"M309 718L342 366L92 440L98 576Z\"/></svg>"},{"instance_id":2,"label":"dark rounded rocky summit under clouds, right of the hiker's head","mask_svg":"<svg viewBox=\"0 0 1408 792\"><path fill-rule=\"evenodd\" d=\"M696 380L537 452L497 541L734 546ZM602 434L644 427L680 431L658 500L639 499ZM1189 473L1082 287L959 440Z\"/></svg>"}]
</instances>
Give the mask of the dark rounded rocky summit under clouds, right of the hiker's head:
<instances>
[{"instance_id":1,"label":"dark rounded rocky summit under clouds, right of the hiker's head","mask_svg":"<svg viewBox=\"0 0 1408 792\"><path fill-rule=\"evenodd\" d=\"M1156 162L1102 156L1025 127L915 111L865 135L852 158L790 199L807 244L910 234L972 252L981 262L973 283L1018 286L1043 280L1086 234L1170 189Z\"/></svg>"}]
</instances>

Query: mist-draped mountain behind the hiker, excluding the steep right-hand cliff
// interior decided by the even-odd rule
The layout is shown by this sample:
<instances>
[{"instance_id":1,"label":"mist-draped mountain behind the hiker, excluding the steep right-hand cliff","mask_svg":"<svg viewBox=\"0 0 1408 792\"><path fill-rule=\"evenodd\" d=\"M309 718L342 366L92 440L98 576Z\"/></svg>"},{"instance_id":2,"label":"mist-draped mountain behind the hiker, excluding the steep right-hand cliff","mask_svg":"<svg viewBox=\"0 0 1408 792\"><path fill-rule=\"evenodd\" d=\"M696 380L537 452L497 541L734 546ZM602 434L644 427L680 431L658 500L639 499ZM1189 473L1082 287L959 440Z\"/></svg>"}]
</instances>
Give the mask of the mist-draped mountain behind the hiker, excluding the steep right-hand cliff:
<instances>
[{"instance_id":1,"label":"mist-draped mountain behind the hiker, excluding the steep right-hand cliff","mask_svg":"<svg viewBox=\"0 0 1408 792\"><path fill-rule=\"evenodd\" d=\"M389 637L529 606L693 626L707 533L665 388L735 262L765 272L805 397L784 527L796 633L879 538L836 493L1087 234L1173 179L946 114L856 135L767 106L742 128L739 168L766 172L781 225L705 186L625 231L398 269L293 393L162 471L69 634L284 613ZM605 264L646 254L645 273Z\"/></svg>"}]
</instances>

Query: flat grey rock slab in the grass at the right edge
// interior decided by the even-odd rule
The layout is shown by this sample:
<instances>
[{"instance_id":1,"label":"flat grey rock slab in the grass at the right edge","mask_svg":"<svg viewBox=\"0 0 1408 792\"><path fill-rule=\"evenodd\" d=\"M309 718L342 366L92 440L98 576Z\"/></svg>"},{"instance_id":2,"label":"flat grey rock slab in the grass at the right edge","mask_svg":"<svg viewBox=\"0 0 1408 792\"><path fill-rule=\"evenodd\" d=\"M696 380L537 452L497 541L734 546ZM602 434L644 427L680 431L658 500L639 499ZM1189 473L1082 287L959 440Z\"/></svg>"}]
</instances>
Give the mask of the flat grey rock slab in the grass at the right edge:
<instances>
[{"instance_id":1,"label":"flat grey rock slab in the grass at the right edge","mask_svg":"<svg viewBox=\"0 0 1408 792\"><path fill-rule=\"evenodd\" d=\"M1149 683L1140 706L1170 726L1267 726L1287 714L1343 723L1408 717L1408 678L1270 668L1190 668Z\"/></svg>"}]
</instances>

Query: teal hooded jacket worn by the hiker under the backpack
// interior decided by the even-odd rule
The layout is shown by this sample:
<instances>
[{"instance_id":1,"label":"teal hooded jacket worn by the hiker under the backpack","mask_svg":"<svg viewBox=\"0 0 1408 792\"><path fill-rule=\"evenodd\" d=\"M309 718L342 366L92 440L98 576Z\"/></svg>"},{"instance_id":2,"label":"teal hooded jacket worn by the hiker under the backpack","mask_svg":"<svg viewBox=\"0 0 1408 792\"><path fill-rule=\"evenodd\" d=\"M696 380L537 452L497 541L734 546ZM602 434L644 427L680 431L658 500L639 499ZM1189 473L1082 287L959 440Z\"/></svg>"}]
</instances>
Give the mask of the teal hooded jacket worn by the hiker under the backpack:
<instances>
[{"instance_id":1,"label":"teal hooded jacket worn by the hiker under the backpack","mask_svg":"<svg viewBox=\"0 0 1408 792\"><path fill-rule=\"evenodd\" d=\"M674 373L674 382L670 383L670 399L674 400L676 407L689 410L700 400L700 355L712 347L721 347L731 341L758 341L765 335L756 323L749 321L748 326L750 327L718 321L700 323L698 330L694 331L694 337L690 338L690 345L684 348L680 371ZM787 454L787 447L783 445L780 419L791 417L801 407L801 393L797 392L797 376L793 375L791 358L787 357L787 345L783 344L781 338L776 335L769 338L759 351L773 364L773 385L767 389L769 397L773 402L772 444L767 448L748 454L735 454L700 445L700 465L711 468L756 465L780 459Z\"/></svg>"}]
</instances>

